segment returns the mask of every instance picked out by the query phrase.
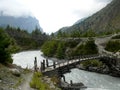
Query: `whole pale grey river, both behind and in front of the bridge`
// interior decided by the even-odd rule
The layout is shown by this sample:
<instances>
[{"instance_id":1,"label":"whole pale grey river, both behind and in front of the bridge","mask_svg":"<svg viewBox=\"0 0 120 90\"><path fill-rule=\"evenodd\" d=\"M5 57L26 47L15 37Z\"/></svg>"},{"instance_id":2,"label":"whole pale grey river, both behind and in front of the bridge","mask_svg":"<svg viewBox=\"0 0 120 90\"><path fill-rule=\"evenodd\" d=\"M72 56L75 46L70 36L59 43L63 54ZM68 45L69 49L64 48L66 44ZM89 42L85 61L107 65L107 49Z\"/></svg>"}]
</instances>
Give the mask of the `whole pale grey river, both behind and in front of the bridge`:
<instances>
[{"instance_id":1,"label":"whole pale grey river, both behind and in front of the bridge","mask_svg":"<svg viewBox=\"0 0 120 90\"><path fill-rule=\"evenodd\" d=\"M41 51L25 51L12 55L13 63L23 68L32 68L34 58L37 57L38 65L45 59ZM52 63L51 60L49 60ZM120 78L87 72L79 69L72 69L71 73L65 74L66 81L82 82L88 88L85 90L120 90Z\"/></svg>"}]
</instances>

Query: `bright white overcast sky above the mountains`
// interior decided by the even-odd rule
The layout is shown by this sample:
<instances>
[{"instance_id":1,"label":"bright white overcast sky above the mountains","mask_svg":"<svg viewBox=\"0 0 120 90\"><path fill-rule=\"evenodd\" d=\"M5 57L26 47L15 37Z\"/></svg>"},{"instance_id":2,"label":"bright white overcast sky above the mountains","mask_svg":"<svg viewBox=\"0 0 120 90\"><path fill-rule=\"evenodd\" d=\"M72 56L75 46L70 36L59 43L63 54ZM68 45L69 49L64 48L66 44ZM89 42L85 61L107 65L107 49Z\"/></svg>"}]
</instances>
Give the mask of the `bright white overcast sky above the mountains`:
<instances>
[{"instance_id":1,"label":"bright white overcast sky above the mountains","mask_svg":"<svg viewBox=\"0 0 120 90\"><path fill-rule=\"evenodd\" d=\"M0 0L0 11L12 16L35 16L51 33L88 17L112 0Z\"/></svg>"}]
</instances>

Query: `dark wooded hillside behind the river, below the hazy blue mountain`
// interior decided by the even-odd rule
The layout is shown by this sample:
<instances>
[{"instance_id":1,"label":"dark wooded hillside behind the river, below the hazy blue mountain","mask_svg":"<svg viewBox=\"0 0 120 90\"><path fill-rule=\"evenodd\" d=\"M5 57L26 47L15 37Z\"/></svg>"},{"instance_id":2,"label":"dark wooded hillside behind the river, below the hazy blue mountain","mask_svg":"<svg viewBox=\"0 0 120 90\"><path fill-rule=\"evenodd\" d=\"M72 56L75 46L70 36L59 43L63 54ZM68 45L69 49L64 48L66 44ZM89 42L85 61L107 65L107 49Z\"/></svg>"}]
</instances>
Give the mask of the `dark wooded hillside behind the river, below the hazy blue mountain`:
<instances>
[{"instance_id":1,"label":"dark wooded hillside behind the river, below the hazy blue mountain","mask_svg":"<svg viewBox=\"0 0 120 90\"><path fill-rule=\"evenodd\" d=\"M32 33L28 33L19 27L13 28L8 25L5 28L5 32L15 40L21 50L38 49L48 39L48 36L37 27Z\"/></svg>"}]
</instances>

